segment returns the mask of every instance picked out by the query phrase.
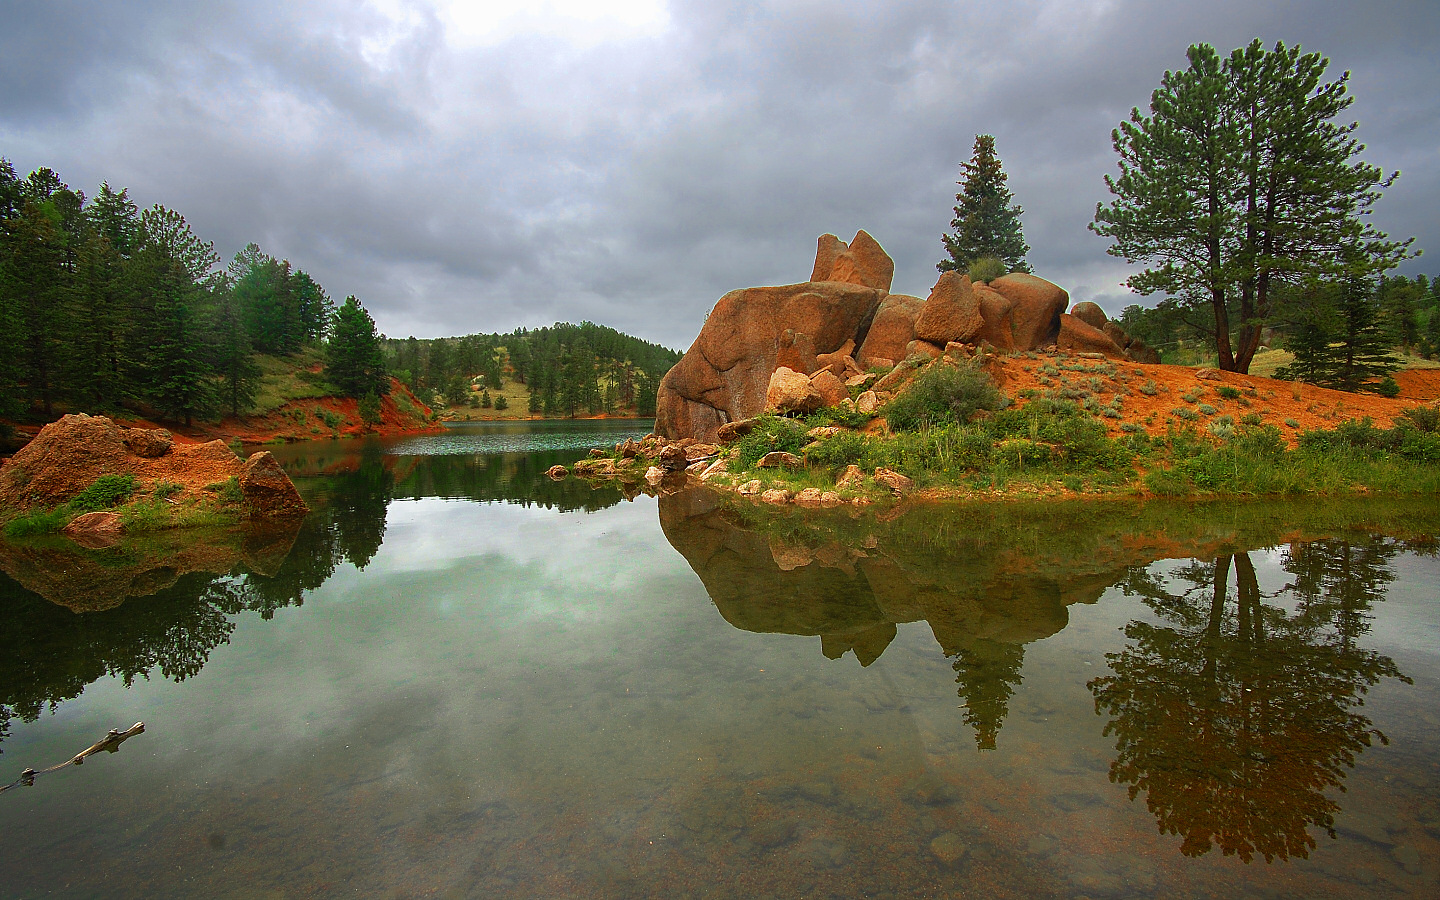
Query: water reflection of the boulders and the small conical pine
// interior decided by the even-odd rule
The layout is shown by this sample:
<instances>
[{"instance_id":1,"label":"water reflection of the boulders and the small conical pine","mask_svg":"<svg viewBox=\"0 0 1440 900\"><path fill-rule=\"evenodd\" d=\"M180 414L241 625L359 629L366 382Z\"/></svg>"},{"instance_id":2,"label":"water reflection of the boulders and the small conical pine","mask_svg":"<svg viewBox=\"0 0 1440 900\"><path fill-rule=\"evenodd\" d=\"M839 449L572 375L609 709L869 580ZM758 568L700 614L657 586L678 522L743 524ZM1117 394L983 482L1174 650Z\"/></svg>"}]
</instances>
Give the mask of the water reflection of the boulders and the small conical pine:
<instances>
[{"instance_id":1,"label":"water reflection of the boulders and the small conical pine","mask_svg":"<svg viewBox=\"0 0 1440 900\"><path fill-rule=\"evenodd\" d=\"M786 537L746 527L707 491L661 497L660 521L720 615L743 631L816 635L825 657L852 651L870 665L897 625L927 622L953 658L982 750L995 749L1024 645L1063 629L1070 603L1093 603L1125 572L1116 563L1076 563L1066 573L1018 564L1015 547L989 543L913 544L874 520L854 544Z\"/></svg>"}]
</instances>

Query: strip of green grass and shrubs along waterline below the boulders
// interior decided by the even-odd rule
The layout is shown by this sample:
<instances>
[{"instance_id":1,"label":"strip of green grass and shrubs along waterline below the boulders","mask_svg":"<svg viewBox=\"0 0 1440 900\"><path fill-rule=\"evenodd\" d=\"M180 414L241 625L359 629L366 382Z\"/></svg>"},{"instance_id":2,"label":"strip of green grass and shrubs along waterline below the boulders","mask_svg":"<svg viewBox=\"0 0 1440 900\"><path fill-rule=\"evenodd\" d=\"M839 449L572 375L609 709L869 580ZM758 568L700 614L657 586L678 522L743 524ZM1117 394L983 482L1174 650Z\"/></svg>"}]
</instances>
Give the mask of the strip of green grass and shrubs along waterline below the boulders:
<instances>
[{"instance_id":1,"label":"strip of green grass and shrubs along waterline below the boulders","mask_svg":"<svg viewBox=\"0 0 1440 900\"><path fill-rule=\"evenodd\" d=\"M874 482L877 468L927 495L960 498L1440 494L1433 406L1410 409L1390 428L1361 418L1286 433L1259 415L1212 415L1166 418L1146 431L1116 428L1100 403L1025 393L1004 396L979 366L933 363L873 416L845 405L755 419L749 433L719 448L726 471L706 481L749 484L750 494L755 482L762 491L818 488L840 500L887 494ZM775 451L799 465L760 468Z\"/></svg>"}]
</instances>

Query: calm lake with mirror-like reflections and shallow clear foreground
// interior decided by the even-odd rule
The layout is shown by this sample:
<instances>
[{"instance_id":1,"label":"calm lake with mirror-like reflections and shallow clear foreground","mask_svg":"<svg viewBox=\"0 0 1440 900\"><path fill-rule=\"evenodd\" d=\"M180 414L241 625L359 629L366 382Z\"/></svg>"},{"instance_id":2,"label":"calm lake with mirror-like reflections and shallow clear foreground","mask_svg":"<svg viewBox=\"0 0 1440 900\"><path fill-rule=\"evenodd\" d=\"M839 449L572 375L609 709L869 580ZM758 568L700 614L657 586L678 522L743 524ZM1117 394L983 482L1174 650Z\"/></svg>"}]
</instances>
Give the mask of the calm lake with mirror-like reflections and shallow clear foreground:
<instances>
[{"instance_id":1,"label":"calm lake with mirror-like reflections and shallow clear foreground","mask_svg":"<svg viewBox=\"0 0 1440 900\"><path fill-rule=\"evenodd\" d=\"M0 564L3 897L1440 896L1433 501L732 507L292 445Z\"/></svg>"}]
</instances>

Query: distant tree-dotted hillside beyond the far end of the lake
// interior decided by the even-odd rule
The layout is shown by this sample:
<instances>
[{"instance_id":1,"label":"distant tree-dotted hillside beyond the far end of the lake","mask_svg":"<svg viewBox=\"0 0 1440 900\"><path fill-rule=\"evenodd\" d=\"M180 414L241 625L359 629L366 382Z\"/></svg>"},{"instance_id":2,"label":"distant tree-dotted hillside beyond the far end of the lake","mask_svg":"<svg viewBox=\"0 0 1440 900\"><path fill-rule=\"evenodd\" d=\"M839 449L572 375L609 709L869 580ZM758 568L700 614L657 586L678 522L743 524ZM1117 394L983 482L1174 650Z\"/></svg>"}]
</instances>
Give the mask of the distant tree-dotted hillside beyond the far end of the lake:
<instances>
[{"instance_id":1,"label":"distant tree-dotted hillside beyond the far end of the lake","mask_svg":"<svg viewBox=\"0 0 1440 900\"><path fill-rule=\"evenodd\" d=\"M510 334L389 338L386 366L446 418L655 415L680 353L606 325L556 323Z\"/></svg>"}]
</instances>

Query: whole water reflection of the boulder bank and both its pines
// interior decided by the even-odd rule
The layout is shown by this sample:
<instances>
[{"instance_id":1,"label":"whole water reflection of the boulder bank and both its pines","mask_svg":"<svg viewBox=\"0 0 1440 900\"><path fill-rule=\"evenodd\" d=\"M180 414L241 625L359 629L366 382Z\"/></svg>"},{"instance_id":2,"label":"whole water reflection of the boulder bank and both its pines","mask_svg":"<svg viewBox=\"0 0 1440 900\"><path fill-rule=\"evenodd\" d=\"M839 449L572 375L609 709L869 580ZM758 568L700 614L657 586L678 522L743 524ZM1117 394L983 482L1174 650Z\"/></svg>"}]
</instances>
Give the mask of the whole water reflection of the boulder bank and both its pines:
<instances>
[{"instance_id":1,"label":"whole water reflection of the boulder bank and both its pines","mask_svg":"<svg viewBox=\"0 0 1440 900\"><path fill-rule=\"evenodd\" d=\"M952 658L975 746L994 750L1022 680L1025 645L1109 586L1156 621L1132 621L1112 674L1089 688L1116 739L1110 779L1146 795L1182 852L1306 857L1333 837L1345 770L1374 740L1358 710L1394 661L1361 647L1404 546L1382 537L1297 540L1293 576L1264 595L1248 552L1296 530L1260 511L914 510L893 523L783 514L746 520L706 494L661 500L667 539L720 615L753 632L818 635L825 657L873 664L897 624L924 621ZM1323 511L1320 513L1323 520ZM1214 549L1228 552L1212 553ZM1174 572L1161 559L1198 556ZM1207 559L1208 557L1208 559ZM1231 577L1233 575L1233 577ZM1178 588L1176 588L1178 585Z\"/></svg>"}]
</instances>

